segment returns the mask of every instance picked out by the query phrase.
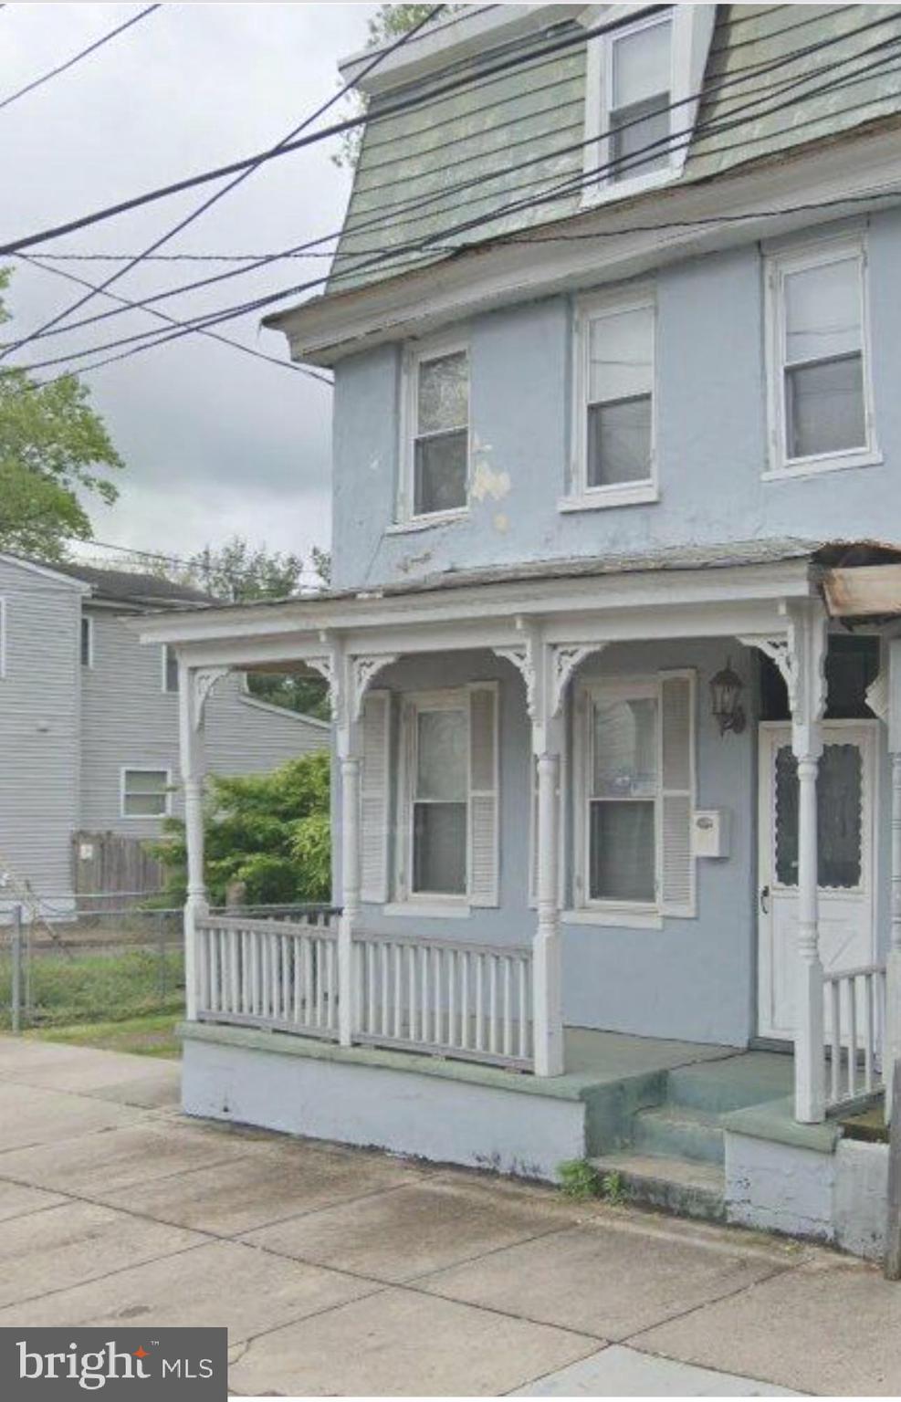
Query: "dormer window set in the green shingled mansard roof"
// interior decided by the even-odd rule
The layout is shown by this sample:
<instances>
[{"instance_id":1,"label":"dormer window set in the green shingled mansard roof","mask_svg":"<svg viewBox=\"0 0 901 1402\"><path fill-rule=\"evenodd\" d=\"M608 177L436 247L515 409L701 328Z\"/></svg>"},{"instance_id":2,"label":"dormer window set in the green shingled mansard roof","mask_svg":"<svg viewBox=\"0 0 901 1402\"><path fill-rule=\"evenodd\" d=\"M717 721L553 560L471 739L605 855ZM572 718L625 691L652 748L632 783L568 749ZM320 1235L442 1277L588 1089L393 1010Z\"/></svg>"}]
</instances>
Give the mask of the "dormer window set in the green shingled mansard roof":
<instances>
[{"instance_id":1,"label":"dormer window set in the green shingled mansard roof","mask_svg":"<svg viewBox=\"0 0 901 1402\"><path fill-rule=\"evenodd\" d=\"M643 21L610 36L607 48L607 132L603 165L608 179L666 170L670 163L673 22ZM650 150L649 150L650 147Z\"/></svg>"}]
</instances>

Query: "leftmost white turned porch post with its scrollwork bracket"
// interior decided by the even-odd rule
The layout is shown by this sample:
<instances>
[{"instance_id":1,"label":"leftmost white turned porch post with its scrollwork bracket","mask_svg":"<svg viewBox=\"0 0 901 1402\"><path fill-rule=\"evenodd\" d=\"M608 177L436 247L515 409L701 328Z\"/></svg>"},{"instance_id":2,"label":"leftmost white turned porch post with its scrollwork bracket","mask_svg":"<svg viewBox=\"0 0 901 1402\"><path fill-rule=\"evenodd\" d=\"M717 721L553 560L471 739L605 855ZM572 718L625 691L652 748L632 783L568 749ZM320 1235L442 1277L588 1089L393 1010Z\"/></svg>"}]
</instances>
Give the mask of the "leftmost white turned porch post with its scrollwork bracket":
<instances>
[{"instance_id":1,"label":"leftmost white turned porch post with its scrollwork bracket","mask_svg":"<svg viewBox=\"0 0 901 1402\"><path fill-rule=\"evenodd\" d=\"M189 667L178 663L178 749L185 791L185 847L188 894L185 900L185 1012L198 1015L196 921L209 914L203 879L203 780L206 777L206 702L230 667Z\"/></svg>"}]
</instances>

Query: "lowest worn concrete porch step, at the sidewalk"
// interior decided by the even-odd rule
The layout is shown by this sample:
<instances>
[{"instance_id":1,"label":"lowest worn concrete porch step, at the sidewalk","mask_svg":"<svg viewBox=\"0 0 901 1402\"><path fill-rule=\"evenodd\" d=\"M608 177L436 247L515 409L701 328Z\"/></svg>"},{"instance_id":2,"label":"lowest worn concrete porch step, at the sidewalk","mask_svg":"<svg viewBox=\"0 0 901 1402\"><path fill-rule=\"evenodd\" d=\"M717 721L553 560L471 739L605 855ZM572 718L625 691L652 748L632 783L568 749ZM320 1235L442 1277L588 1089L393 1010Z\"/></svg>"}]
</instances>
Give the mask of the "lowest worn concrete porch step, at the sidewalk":
<instances>
[{"instance_id":1,"label":"lowest worn concrete porch step, at the sidewalk","mask_svg":"<svg viewBox=\"0 0 901 1402\"><path fill-rule=\"evenodd\" d=\"M680 1217L726 1220L726 1173L719 1164L688 1162L650 1154L604 1154L590 1159L601 1179L632 1203L663 1207ZM611 1183L610 1175L615 1175Z\"/></svg>"}]
</instances>

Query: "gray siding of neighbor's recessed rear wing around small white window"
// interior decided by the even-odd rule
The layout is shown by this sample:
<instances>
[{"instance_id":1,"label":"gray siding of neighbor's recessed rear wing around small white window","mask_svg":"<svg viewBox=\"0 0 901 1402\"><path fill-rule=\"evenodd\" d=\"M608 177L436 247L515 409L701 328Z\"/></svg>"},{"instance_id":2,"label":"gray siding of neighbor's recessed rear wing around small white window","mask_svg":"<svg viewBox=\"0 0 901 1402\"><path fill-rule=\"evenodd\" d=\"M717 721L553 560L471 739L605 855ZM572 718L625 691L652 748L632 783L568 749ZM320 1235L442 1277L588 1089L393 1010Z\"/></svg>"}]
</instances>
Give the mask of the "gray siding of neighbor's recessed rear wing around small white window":
<instances>
[{"instance_id":1,"label":"gray siding of neighbor's recessed rear wing around small white window","mask_svg":"<svg viewBox=\"0 0 901 1402\"><path fill-rule=\"evenodd\" d=\"M122 770L168 770L172 812L181 813L178 695L163 690L161 651L140 645L133 621L97 606L88 611L94 620L94 666L83 669L80 826L85 831L154 837L158 819L122 816ZM248 704L242 687L240 674L224 677L207 702L210 773L265 773L296 754L328 746L328 728Z\"/></svg>"}]
</instances>

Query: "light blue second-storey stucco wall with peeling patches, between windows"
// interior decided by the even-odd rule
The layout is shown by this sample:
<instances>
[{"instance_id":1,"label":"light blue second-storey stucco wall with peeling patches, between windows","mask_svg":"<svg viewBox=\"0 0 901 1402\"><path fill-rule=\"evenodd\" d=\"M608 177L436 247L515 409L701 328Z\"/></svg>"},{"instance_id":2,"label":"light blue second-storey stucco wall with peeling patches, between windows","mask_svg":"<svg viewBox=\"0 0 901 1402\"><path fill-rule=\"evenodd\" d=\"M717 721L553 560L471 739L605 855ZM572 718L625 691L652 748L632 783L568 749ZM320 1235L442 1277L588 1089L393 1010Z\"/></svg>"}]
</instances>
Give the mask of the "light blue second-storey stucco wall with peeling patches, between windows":
<instances>
[{"instance_id":1,"label":"light blue second-storey stucco wall with peeling patches, between windows","mask_svg":"<svg viewBox=\"0 0 901 1402\"><path fill-rule=\"evenodd\" d=\"M841 230L845 226L837 226ZM391 533L398 470L399 356L342 362L335 393L333 578L363 586L447 569L722 543L758 536L901 536L901 215L869 233L877 467L764 482L766 415L762 265L755 245L657 276L660 501L560 513L570 456L570 299L476 318L474 501L468 517ZM587 290L587 289L586 289ZM385 534L388 531L388 534Z\"/></svg>"}]
</instances>

